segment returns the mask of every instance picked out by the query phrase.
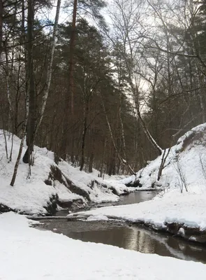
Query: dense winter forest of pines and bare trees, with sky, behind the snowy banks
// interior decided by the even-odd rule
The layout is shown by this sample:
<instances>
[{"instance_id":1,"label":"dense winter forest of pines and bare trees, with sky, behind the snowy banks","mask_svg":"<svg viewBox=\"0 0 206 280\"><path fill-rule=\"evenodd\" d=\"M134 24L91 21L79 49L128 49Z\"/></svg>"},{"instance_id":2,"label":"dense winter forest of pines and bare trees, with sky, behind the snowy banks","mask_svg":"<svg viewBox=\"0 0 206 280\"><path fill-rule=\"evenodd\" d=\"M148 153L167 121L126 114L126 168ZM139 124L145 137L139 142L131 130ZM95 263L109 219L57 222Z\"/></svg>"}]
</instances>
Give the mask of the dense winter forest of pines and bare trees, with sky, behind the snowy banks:
<instances>
[{"instance_id":1,"label":"dense winter forest of pines and bare trees, with sky, behind the snowy banks","mask_svg":"<svg viewBox=\"0 0 206 280\"><path fill-rule=\"evenodd\" d=\"M0 127L22 139L11 185L25 139L30 172L36 145L135 174L205 123L205 12L205 0L1 0Z\"/></svg>"}]
</instances>

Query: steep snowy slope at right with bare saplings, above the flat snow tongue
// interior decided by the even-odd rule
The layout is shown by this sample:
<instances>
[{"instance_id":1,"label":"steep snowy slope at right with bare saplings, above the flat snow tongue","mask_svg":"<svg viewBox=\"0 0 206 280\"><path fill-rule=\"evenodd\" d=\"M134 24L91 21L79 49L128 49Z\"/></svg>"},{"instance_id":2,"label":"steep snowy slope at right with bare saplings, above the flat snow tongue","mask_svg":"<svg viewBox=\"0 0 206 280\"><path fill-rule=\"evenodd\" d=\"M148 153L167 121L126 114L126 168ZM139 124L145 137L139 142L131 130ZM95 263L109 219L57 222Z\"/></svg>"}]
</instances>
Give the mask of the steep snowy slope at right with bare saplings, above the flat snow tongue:
<instances>
[{"instance_id":1,"label":"steep snowy slope at right with bare saplings, above the flat snow tongue","mask_svg":"<svg viewBox=\"0 0 206 280\"><path fill-rule=\"evenodd\" d=\"M163 188L193 193L206 191L206 123L194 127L179 138L172 146L161 179L157 181L162 155L140 169L136 178L142 188L162 186ZM168 150L166 151L166 153ZM165 154L166 154L165 153ZM122 183L130 183L134 176L122 179Z\"/></svg>"}]
</instances>

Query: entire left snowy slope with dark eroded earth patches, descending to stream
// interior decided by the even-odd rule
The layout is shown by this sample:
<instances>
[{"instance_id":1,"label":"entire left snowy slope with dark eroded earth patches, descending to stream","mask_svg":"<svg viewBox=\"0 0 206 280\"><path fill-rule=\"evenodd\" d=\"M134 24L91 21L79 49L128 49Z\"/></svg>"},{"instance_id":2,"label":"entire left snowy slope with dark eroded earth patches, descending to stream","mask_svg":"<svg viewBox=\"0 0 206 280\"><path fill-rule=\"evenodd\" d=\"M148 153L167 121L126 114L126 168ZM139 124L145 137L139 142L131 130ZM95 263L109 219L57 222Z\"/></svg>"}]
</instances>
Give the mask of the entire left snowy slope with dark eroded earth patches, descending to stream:
<instances>
[{"instance_id":1,"label":"entire left snowy slope with dark eroded earth patches, descending to stream","mask_svg":"<svg viewBox=\"0 0 206 280\"><path fill-rule=\"evenodd\" d=\"M6 142L3 131L0 130L0 211L3 206L15 209L25 214L47 214L50 208L55 208L57 195L59 202L79 201L82 207L91 202L117 201L122 193L127 193L128 188L122 184L112 186L95 174L80 172L78 168L71 167L67 162L54 163L54 154L46 148L34 147L34 167L31 167L31 176L28 177L28 165L22 160L17 172L15 186L10 186L20 139L13 136L12 161L6 158L5 144L7 143L8 155L12 146L11 134L6 132ZM22 155L26 151L24 145ZM46 185L45 180L50 179L51 166L60 170L64 175L62 181L50 181L52 186ZM96 172L97 173L97 172ZM66 180L68 181L66 183ZM66 185L68 188L66 188ZM115 194L114 194L115 193Z\"/></svg>"}]
</instances>

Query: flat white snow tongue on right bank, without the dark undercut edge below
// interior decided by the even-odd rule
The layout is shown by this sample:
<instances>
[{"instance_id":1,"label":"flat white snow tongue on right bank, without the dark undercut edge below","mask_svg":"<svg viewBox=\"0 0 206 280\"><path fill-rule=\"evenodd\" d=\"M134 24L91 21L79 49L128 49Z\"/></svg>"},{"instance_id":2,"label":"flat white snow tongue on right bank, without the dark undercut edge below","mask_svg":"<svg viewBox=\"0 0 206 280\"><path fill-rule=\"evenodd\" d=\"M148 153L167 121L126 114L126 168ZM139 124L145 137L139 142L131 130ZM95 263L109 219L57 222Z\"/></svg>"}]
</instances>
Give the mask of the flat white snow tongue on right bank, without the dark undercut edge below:
<instances>
[{"instance_id":1,"label":"flat white snow tongue on right bank, without the dark undercut edge below","mask_svg":"<svg viewBox=\"0 0 206 280\"><path fill-rule=\"evenodd\" d=\"M206 230L206 197L201 194L179 193L177 190L165 193L163 197L138 204L102 207L78 212L68 216L96 216L123 219L125 221L152 225L155 229L165 228L165 223L181 223L190 228Z\"/></svg>"}]
</instances>

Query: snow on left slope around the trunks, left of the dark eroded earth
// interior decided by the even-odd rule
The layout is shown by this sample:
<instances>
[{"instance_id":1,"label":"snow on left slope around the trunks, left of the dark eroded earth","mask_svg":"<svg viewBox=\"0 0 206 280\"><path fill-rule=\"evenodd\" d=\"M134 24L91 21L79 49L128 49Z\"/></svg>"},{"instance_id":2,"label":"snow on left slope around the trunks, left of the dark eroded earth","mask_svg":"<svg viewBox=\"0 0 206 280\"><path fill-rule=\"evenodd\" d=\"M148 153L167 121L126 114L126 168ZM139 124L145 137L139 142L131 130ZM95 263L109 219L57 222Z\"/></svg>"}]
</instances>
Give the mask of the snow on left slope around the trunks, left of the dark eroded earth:
<instances>
[{"instance_id":1,"label":"snow on left slope around the trunks, left of the dark eroded earth","mask_svg":"<svg viewBox=\"0 0 206 280\"><path fill-rule=\"evenodd\" d=\"M7 134L8 152L10 153L11 135ZM54 163L52 153L45 148L40 149L35 147L34 152L34 167L31 167L31 176L28 178L28 165L24 165L22 160L17 172L15 186L10 186L10 180L13 175L13 169L17 153L20 147L20 139L13 136L13 160L8 162L5 152L5 141L3 132L0 131L0 154L2 155L0 162L0 204L4 204L16 211L25 212L27 214L47 214L47 204L50 203L50 197L58 194L53 186L47 186L44 181L50 173L50 165ZM23 148L23 153L26 151L26 146ZM47 156L45 156L47 155ZM73 194L61 186L64 192L67 192L69 200L73 199Z\"/></svg>"}]
</instances>

